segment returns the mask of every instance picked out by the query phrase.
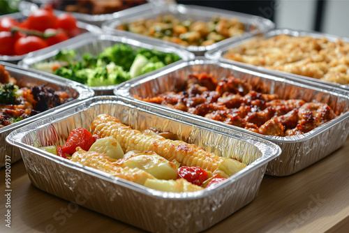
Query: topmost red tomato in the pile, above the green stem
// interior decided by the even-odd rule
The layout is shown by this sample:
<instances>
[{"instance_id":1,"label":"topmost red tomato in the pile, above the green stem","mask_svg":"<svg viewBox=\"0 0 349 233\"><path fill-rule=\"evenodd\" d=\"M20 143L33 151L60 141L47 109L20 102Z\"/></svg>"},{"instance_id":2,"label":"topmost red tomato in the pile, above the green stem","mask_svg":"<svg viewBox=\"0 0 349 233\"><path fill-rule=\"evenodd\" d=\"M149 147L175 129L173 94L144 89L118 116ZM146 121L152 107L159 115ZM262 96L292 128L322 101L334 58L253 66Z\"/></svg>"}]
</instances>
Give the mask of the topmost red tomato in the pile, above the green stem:
<instances>
[{"instance_id":1,"label":"topmost red tomato in the pile, above the green stem","mask_svg":"<svg viewBox=\"0 0 349 233\"><path fill-rule=\"evenodd\" d=\"M39 8L28 17L29 29L45 31L46 29L55 29L57 18L49 10Z\"/></svg>"}]
</instances>

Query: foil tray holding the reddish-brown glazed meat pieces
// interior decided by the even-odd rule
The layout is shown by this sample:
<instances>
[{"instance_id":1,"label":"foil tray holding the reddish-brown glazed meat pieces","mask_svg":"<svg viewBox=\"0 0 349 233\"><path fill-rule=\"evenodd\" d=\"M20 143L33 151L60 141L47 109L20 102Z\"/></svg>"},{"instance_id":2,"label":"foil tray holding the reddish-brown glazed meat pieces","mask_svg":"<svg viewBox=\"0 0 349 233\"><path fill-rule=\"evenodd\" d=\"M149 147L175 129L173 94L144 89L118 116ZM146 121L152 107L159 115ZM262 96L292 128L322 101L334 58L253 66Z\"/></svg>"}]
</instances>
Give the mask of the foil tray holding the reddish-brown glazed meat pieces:
<instances>
[{"instance_id":1,"label":"foil tray holding the reddish-brown glazed meat pieces","mask_svg":"<svg viewBox=\"0 0 349 233\"><path fill-rule=\"evenodd\" d=\"M282 76L272 76L258 73L255 70L239 68L229 63L222 63L198 57L193 61L181 62L170 66L167 70L156 75L150 75L144 80L130 80L121 84L114 90L116 95L125 96L136 100L133 95L140 97L152 97L164 91L174 91L177 85L186 82L188 73L207 72L214 77L228 77L233 75L252 84L253 87L262 88L263 93L276 93L280 98L301 98L306 102L316 100L327 103L336 113L342 113L336 119L311 130L303 135L288 137L265 136L253 133L244 128L230 126L220 121L214 121L205 117L196 116L179 110L172 110L180 117L188 117L195 121L206 123L207 127L220 127L220 131L239 130L251 135L262 137L278 144L282 153L281 156L272 160L266 174L274 176L286 176L294 174L299 170L312 165L321 158L343 146L349 133L349 92L343 89L335 89L307 80L293 80L292 77L285 79ZM169 109L162 105L149 103L149 106ZM169 111L171 111L169 109ZM174 116L177 116L174 114Z\"/></svg>"}]
</instances>

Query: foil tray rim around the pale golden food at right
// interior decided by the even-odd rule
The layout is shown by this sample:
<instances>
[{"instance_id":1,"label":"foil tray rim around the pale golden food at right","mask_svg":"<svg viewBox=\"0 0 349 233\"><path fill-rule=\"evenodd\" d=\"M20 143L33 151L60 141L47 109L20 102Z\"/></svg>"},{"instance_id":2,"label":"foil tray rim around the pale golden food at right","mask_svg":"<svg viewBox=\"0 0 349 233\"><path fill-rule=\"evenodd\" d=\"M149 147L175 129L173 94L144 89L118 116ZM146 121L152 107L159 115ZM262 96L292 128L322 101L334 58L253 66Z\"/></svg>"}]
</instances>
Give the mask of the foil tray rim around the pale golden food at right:
<instances>
[{"instance_id":1,"label":"foil tray rim around the pale golden food at right","mask_svg":"<svg viewBox=\"0 0 349 233\"><path fill-rule=\"evenodd\" d=\"M265 33L263 36L264 36L264 38L267 39L267 38L272 38L273 36L277 36L277 35L311 36L313 38L324 38L325 37L329 41L336 41L338 39L341 39L344 42L349 43L349 38L341 38L338 36L332 36L332 35L329 35L326 33L320 33L320 32L315 32L315 31L311 31L311 32L310 31L296 31L296 30L291 30L291 29L275 29L275 30L272 30L272 31ZM283 75L283 77L291 77L291 80L294 80L294 79L309 80L311 82L319 82L320 84L325 84L327 86L332 86L332 87L337 87L337 88L349 90L349 85L337 84L335 82L327 82L324 80L315 79L313 77L295 75L295 74L287 73L287 72L280 71L280 70L267 69L264 67L253 66L253 65L250 65L247 63L242 63L239 61L232 61L230 59L223 58L224 54L226 54L229 49L231 49L233 47L237 47L237 46L242 45L244 43L248 43L248 41L253 40L255 37L256 36L252 36L250 38L244 38L243 40L236 41L235 43L224 43L223 45L216 47L216 49L210 50L209 52L207 52L205 54L205 57L207 57L208 59L212 59L212 60L219 60L219 61L223 61L223 62L232 63L235 66L239 66L239 67L246 68L246 69L257 69L260 72L268 73L270 75Z\"/></svg>"}]
</instances>

